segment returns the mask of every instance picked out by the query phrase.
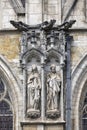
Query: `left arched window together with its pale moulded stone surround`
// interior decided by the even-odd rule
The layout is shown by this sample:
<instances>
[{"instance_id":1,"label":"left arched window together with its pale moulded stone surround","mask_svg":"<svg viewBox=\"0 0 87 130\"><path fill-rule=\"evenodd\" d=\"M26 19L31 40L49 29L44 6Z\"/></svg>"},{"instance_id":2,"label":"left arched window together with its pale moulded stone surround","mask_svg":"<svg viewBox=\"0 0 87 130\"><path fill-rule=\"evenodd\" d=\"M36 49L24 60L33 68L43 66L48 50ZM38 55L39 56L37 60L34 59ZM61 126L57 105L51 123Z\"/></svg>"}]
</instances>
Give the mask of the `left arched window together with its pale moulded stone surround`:
<instances>
[{"instance_id":1,"label":"left arched window together with its pale moulded stone surround","mask_svg":"<svg viewBox=\"0 0 87 130\"><path fill-rule=\"evenodd\" d=\"M7 60L0 55L0 130L21 130L21 87L19 78L15 76Z\"/></svg>"}]
</instances>

